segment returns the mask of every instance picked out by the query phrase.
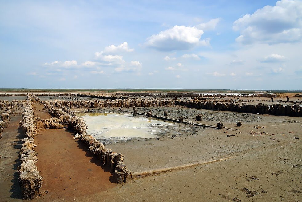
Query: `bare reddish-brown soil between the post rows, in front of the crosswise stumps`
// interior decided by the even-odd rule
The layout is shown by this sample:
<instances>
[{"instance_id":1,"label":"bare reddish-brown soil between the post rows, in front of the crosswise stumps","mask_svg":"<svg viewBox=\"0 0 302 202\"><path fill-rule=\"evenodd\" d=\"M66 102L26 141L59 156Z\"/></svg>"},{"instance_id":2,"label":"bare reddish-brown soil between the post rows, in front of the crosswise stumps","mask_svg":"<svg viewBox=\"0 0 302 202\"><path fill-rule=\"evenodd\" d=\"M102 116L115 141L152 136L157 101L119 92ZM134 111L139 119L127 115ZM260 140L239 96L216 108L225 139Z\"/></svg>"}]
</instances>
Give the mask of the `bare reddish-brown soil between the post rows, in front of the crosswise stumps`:
<instances>
[{"instance_id":1,"label":"bare reddish-brown soil between the post rows, in front of the crosswise stumps","mask_svg":"<svg viewBox=\"0 0 302 202\"><path fill-rule=\"evenodd\" d=\"M35 136L36 166L43 177L41 200L73 200L117 185L110 182L112 174L73 137L65 129L47 129Z\"/></svg>"}]
</instances>

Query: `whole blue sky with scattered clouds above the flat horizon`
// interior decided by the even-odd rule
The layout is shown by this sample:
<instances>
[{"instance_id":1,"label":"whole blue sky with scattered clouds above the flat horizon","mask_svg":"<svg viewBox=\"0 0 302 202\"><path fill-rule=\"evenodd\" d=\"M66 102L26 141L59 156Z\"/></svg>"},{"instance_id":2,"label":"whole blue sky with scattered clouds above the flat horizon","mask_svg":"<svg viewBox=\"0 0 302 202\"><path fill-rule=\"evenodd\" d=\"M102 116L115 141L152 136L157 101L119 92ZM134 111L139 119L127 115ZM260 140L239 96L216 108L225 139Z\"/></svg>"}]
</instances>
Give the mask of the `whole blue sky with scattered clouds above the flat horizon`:
<instances>
[{"instance_id":1,"label":"whole blue sky with scattered clouds above the flat horizon","mask_svg":"<svg viewBox=\"0 0 302 202\"><path fill-rule=\"evenodd\" d=\"M0 88L302 90L301 0L0 0Z\"/></svg>"}]
</instances>

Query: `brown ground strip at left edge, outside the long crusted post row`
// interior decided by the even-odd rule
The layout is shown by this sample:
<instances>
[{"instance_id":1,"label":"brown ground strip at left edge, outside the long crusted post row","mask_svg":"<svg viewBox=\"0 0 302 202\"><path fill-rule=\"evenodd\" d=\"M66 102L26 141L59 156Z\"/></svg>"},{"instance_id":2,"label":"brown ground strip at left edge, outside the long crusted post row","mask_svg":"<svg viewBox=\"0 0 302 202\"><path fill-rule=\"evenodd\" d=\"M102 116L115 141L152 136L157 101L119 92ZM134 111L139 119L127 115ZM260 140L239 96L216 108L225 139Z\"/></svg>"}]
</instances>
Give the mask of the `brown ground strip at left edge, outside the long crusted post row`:
<instances>
[{"instance_id":1,"label":"brown ground strip at left edge, outside the long crusted post row","mask_svg":"<svg viewBox=\"0 0 302 202\"><path fill-rule=\"evenodd\" d=\"M10 118L10 124L3 130L0 139L0 201L18 201L22 198L17 173L17 167L20 166L18 153L24 138L19 127L22 116L12 114Z\"/></svg>"}]
</instances>

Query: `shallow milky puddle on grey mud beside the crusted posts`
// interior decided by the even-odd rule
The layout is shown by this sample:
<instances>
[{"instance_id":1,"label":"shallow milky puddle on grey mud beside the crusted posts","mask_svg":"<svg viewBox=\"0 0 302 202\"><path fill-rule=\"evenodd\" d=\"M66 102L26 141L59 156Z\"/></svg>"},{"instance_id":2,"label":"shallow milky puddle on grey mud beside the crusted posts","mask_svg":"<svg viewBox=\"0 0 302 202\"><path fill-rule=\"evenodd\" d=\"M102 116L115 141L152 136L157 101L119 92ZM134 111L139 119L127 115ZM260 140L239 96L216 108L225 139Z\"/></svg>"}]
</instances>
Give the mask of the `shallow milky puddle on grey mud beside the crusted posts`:
<instances>
[{"instance_id":1,"label":"shallow milky puddle on grey mud beside the crusted posts","mask_svg":"<svg viewBox=\"0 0 302 202\"><path fill-rule=\"evenodd\" d=\"M86 121L87 133L104 144L159 137L168 125L173 125L125 113L77 113L77 116Z\"/></svg>"}]
</instances>

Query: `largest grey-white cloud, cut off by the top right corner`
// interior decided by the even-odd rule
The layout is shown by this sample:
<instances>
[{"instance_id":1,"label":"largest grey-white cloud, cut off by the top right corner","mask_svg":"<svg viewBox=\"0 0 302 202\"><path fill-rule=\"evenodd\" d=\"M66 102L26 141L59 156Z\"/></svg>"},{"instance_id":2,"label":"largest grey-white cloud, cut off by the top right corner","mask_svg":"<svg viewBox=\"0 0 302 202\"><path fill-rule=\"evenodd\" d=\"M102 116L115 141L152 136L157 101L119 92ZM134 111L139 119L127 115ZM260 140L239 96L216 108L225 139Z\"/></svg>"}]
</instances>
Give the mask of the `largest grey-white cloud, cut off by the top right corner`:
<instances>
[{"instance_id":1,"label":"largest grey-white cloud, cut off by the top right corner","mask_svg":"<svg viewBox=\"0 0 302 202\"><path fill-rule=\"evenodd\" d=\"M282 0L275 6L264 6L233 23L240 31L236 39L242 44L299 42L302 39L302 1Z\"/></svg>"}]
</instances>

